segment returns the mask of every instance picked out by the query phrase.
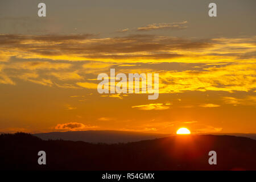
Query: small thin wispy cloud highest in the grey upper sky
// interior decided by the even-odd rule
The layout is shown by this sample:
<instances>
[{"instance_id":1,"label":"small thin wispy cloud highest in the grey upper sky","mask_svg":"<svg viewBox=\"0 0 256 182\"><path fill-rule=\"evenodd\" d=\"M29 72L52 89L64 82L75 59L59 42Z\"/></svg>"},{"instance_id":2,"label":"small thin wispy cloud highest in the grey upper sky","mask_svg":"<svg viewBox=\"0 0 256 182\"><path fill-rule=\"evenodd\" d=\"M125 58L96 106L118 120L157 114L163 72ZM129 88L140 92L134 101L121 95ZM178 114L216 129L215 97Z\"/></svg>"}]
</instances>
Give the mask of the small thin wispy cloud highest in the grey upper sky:
<instances>
[{"instance_id":1,"label":"small thin wispy cloud highest in the grey upper sky","mask_svg":"<svg viewBox=\"0 0 256 182\"><path fill-rule=\"evenodd\" d=\"M150 30L160 30L160 29L171 29L171 30L183 30L187 28L185 24L187 24L187 21L184 22L177 22L177 23L153 23L148 24L144 27L138 27L138 31L150 31Z\"/></svg>"}]
</instances>

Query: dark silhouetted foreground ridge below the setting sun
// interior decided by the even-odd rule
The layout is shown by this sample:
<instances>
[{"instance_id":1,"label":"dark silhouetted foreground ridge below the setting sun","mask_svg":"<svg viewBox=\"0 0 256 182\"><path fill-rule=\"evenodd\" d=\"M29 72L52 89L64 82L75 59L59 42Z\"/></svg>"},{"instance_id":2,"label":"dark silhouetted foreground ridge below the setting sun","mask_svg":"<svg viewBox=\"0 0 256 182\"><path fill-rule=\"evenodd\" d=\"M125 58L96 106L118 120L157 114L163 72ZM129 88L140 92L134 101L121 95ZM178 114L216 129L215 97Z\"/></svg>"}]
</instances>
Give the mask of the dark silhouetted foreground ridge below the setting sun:
<instances>
[{"instance_id":1,"label":"dark silhouetted foreground ridge below the setting sun","mask_svg":"<svg viewBox=\"0 0 256 182\"><path fill-rule=\"evenodd\" d=\"M0 135L0 169L34 170L256 170L256 140L228 135L187 135L126 144L42 140ZM208 163L217 152L217 165ZM46 151L46 165L38 152Z\"/></svg>"}]
</instances>

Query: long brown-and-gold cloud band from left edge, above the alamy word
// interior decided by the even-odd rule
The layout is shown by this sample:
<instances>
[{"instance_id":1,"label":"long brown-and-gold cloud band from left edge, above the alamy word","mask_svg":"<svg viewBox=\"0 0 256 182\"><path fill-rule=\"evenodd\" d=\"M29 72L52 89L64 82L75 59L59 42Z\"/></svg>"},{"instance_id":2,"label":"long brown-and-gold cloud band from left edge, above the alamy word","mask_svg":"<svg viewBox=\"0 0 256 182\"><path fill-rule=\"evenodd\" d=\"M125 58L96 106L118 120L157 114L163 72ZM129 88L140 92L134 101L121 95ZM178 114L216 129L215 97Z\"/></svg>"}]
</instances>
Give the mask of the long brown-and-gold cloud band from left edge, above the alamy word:
<instances>
[{"instance_id":1,"label":"long brown-and-gold cloud band from left edge, above the alamy word","mask_svg":"<svg viewBox=\"0 0 256 182\"><path fill-rule=\"evenodd\" d=\"M75 39L76 38L76 39ZM177 49L209 47L205 41L155 35L129 35L115 38L85 39L84 36L0 35L0 51L9 57L51 60L171 59L183 56ZM57 41L57 42L56 42ZM173 51L173 52L171 52ZM5 55L8 56L8 55Z\"/></svg>"}]
</instances>

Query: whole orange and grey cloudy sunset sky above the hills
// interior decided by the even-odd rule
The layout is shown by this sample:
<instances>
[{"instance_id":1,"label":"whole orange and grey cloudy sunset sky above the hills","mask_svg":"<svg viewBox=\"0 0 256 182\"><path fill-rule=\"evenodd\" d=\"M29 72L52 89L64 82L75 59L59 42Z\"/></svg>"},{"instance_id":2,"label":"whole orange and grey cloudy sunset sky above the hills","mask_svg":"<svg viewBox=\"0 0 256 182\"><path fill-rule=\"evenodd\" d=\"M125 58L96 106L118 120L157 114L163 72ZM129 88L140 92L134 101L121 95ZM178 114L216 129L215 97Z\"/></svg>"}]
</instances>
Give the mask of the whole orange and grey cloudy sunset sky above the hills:
<instances>
[{"instance_id":1,"label":"whole orange and grey cloudy sunset sky above the hills","mask_svg":"<svg viewBox=\"0 0 256 182\"><path fill-rule=\"evenodd\" d=\"M256 133L255 5L1 1L0 132ZM98 93L110 68L158 73L158 99Z\"/></svg>"}]
</instances>

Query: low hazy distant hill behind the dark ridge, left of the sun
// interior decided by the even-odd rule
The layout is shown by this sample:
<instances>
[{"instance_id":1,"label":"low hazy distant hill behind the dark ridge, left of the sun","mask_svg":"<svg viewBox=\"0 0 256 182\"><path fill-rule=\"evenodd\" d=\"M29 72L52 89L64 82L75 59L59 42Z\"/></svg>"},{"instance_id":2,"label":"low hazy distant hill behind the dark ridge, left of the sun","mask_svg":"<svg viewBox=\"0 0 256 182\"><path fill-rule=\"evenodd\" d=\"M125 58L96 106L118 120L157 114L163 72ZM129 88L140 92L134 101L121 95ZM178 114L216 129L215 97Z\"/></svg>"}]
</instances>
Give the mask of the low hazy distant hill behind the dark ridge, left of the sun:
<instances>
[{"instance_id":1,"label":"low hazy distant hill behind the dark ridge, left of the sun","mask_svg":"<svg viewBox=\"0 0 256 182\"><path fill-rule=\"evenodd\" d=\"M90 143L127 143L141 140L168 137L170 134L154 134L132 131L67 131L34 134L43 140L63 139L71 141L83 141Z\"/></svg>"}]
</instances>

